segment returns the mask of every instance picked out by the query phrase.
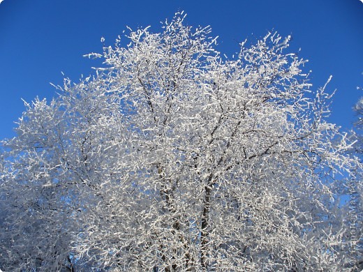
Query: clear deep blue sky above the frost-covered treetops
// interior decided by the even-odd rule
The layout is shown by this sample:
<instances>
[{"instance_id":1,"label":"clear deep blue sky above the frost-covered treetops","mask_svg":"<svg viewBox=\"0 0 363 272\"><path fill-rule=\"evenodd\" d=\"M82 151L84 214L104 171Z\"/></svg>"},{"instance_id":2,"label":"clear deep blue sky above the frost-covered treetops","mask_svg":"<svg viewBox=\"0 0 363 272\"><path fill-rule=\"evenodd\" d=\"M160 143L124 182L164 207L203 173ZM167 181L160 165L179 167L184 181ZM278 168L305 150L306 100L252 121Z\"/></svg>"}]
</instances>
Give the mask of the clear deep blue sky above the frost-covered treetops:
<instances>
[{"instance_id":1,"label":"clear deep blue sky above the frost-covered treetops","mask_svg":"<svg viewBox=\"0 0 363 272\"><path fill-rule=\"evenodd\" d=\"M92 73L95 61L82 57L101 52L126 29L151 25L178 10L187 23L211 25L218 50L232 55L245 38L269 30L292 35L292 52L309 59L313 88L337 89L329 121L350 129L353 105L363 95L363 3L360 0L3 0L0 3L0 139L13 137L14 121L24 111L21 98L52 98L50 82L64 72L77 81Z\"/></svg>"}]
</instances>

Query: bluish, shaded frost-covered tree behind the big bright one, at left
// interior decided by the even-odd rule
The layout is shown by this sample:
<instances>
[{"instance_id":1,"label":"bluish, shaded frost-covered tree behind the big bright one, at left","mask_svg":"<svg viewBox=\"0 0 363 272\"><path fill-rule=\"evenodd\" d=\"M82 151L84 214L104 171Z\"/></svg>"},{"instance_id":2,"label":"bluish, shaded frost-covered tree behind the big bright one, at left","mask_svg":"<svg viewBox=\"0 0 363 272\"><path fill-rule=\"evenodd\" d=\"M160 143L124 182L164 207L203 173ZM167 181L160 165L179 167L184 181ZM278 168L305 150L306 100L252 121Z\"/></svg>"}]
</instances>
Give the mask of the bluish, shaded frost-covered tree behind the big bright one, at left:
<instances>
[{"instance_id":1,"label":"bluish, shaded frost-covered tree behind the big bright one, at left","mask_svg":"<svg viewBox=\"0 0 363 272\"><path fill-rule=\"evenodd\" d=\"M3 142L0 269L5 271L72 271L78 213L96 203L96 183L112 165L107 157L112 153L96 149L120 133L114 130L119 105L103 95L101 82L63 91L50 105L38 99L26 103L17 137Z\"/></svg>"}]
</instances>

